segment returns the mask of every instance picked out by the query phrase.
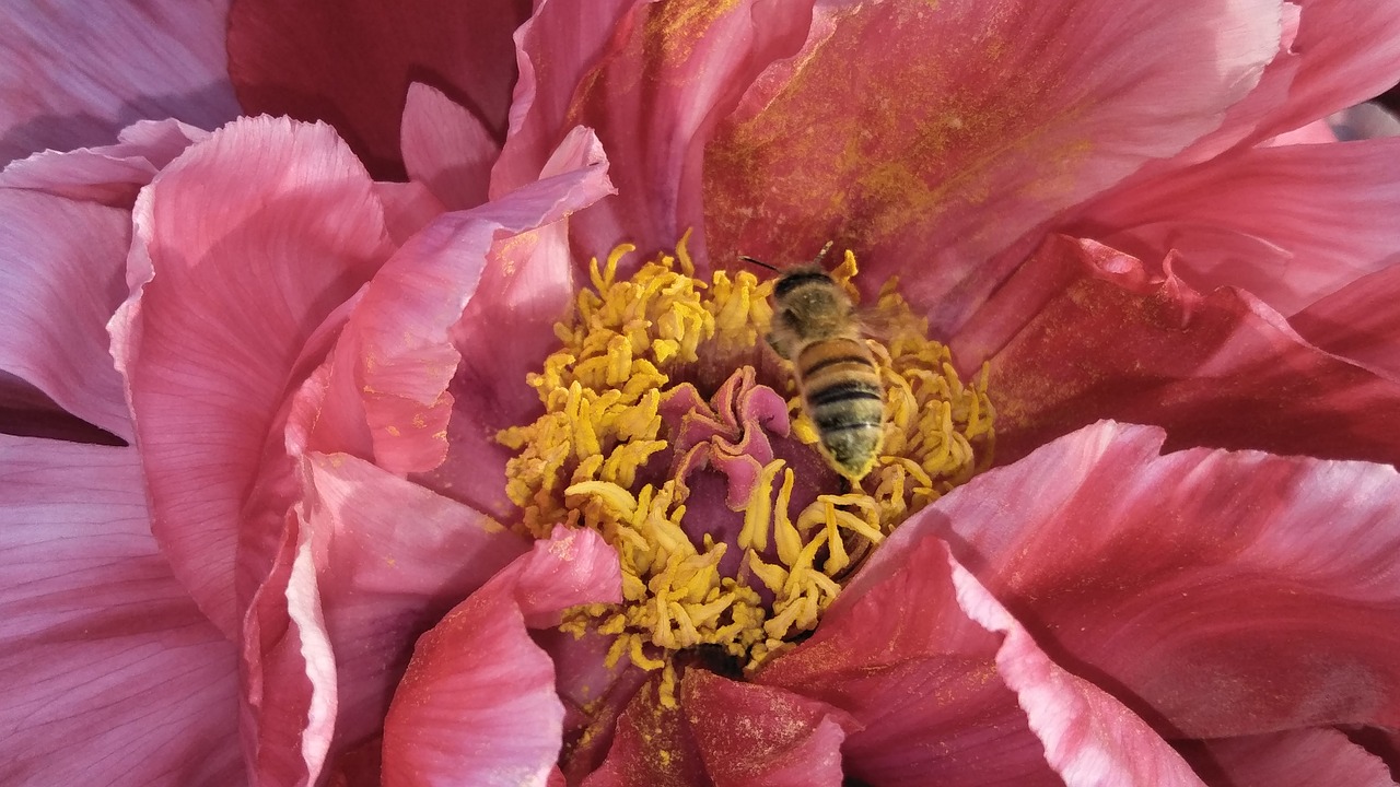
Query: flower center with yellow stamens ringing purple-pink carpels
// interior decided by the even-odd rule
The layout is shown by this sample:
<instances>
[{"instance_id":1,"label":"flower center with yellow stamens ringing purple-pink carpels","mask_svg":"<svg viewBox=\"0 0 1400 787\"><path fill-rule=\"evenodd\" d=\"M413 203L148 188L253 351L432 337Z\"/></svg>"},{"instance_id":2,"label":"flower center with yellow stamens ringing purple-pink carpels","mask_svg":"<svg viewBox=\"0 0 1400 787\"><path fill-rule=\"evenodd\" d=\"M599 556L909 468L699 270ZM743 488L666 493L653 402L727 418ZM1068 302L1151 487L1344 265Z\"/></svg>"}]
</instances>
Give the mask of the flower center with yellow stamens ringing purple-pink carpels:
<instances>
[{"instance_id":1,"label":"flower center with yellow stamens ringing purple-pink carpels","mask_svg":"<svg viewBox=\"0 0 1400 787\"><path fill-rule=\"evenodd\" d=\"M617 550L623 602L575 608L564 627L613 636L609 665L665 669L668 700L683 651L722 650L752 669L815 629L872 548L990 465L993 408L987 368L965 385L890 281L872 309L886 340L867 340L883 440L868 475L846 483L816 448L791 368L763 346L774 281L697 279L686 237L619 279L631 251L592 260L592 287L554 326L563 346L528 377L545 415L498 440L519 451L507 493L524 532L563 522ZM855 273L850 252L830 273L853 300Z\"/></svg>"}]
</instances>

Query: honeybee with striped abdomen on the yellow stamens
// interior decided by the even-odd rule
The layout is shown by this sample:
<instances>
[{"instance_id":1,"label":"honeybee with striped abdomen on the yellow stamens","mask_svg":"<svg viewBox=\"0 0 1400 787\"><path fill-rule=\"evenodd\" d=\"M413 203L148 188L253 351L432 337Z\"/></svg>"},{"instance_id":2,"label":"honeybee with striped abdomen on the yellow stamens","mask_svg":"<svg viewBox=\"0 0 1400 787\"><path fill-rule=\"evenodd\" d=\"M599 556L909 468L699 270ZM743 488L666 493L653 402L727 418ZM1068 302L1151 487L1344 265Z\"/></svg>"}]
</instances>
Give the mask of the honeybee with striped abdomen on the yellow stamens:
<instances>
[{"instance_id":1,"label":"honeybee with striped abdomen on the yellow stamens","mask_svg":"<svg viewBox=\"0 0 1400 787\"><path fill-rule=\"evenodd\" d=\"M885 438L885 386L846 291L822 269L832 248L808 265L778 270L767 340L792 363L802 409L816 424L822 454L851 485L871 472Z\"/></svg>"}]
</instances>

